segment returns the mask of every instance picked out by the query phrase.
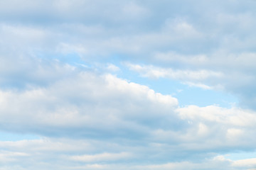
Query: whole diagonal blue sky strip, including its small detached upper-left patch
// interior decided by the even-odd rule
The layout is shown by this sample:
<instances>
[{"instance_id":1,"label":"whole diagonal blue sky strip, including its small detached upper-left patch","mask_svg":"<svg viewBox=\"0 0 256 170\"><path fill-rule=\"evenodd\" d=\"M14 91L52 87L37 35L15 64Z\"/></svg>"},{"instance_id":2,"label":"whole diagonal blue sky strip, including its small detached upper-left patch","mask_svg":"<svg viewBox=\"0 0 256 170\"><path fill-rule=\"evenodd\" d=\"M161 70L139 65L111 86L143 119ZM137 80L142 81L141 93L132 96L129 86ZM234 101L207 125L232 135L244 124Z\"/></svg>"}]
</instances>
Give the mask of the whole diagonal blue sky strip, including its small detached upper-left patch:
<instances>
[{"instance_id":1,"label":"whole diagonal blue sky strip, including its small detached upper-left patch","mask_svg":"<svg viewBox=\"0 0 256 170\"><path fill-rule=\"evenodd\" d=\"M127 57L124 56L124 58ZM124 58L122 57L122 59ZM78 68L86 67L88 69L93 69L93 67L97 67L94 66L92 62L85 62L85 60L75 52L70 52L65 55L55 55L55 59ZM217 105L224 108L230 108L238 103L238 98L223 91L188 86L186 84L182 84L180 81L172 79L149 79L147 77L140 77L136 72L132 72L127 67L123 66L119 55L113 55L111 58L106 57L105 60L101 60L100 62L102 65L107 63L114 64L121 69L121 72L113 73L117 74L117 77L137 84L149 86L150 89L153 89L158 93L174 96L178 99L178 103L181 107L188 105L196 105L200 107Z\"/></svg>"}]
</instances>

